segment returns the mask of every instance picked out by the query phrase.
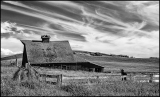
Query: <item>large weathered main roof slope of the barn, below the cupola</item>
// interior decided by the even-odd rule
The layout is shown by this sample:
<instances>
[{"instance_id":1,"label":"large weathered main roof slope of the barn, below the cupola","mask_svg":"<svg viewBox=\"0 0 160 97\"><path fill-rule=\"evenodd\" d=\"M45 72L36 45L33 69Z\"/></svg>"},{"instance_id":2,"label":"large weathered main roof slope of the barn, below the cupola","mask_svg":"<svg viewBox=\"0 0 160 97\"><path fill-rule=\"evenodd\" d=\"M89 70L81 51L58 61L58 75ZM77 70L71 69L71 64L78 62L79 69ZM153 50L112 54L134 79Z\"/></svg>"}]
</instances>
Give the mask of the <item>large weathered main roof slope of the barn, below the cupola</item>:
<instances>
[{"instance_id":1,"label":"large weathered main roof slope of the barn, below the cupola","mask_svg":"<svg viewBox=\"0 0 160 97\"><path fill-rule=\"evenodd\" d=\"M27 53L28 62L35 63L73 63L73 52L68 41L21 40Z\"/></svg>"}]
</instances>

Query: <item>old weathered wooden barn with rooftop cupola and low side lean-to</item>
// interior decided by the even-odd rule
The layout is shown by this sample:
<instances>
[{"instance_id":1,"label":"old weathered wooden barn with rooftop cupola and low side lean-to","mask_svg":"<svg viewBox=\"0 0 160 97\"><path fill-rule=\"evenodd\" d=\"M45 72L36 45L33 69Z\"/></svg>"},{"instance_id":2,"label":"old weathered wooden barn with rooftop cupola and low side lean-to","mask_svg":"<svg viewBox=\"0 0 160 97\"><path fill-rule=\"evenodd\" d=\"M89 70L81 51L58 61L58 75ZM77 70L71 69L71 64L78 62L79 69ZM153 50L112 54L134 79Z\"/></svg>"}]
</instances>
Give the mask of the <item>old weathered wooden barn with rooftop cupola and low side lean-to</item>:
<instances>
[{"instance_id":1,"label":"old weathered wooden barn with rooftop cupola and low side lean-to","mask_svg":"<svg viewBox=\"0 0 160 97\"><path fill-rule=\"evenodd\" d=\"M68 41L49 41L50 36L42 35L42 40L21 40L24 45L22 66L30 62L32 66L102 72L104 67L74 55Z\"/></svg>"}]
</instances>

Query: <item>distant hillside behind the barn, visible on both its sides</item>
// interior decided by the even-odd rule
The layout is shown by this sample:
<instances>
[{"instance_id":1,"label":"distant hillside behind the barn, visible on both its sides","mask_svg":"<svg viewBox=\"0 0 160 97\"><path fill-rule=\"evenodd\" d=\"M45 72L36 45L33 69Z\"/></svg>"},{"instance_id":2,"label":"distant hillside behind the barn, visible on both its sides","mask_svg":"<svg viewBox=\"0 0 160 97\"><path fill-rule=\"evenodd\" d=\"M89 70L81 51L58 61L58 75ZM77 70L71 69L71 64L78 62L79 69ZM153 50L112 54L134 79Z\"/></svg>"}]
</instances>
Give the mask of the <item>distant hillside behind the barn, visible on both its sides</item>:
<instances>
[{"instance_id":1,"label":"distant hillside behind the barn, visible on both its sides","mask_svg":"<svg viewBox=\"0 0 160 97\"><path fill-rule=\"evenodd\" d=\"M96 52L87 52L87 51L73 51L74 54L81 56L82 58L105 67L105 71L114 71L123 68L125 71L138 72L138 71L147 71L155 72L159 71L159 58L130 58L130 57L120 57L120 56L111 56L111 55L94 55ZM93 55L92 55L93 54ZM1 58L1 64L10 64L9 60L19 59L19 63L22 62L22 53L12 56L7 56ZM4 60L4 61L3 61ZM5 61L6 60L6 61ZM7 61L9 63L7 63Z\"/></svg>"}]
</instances>

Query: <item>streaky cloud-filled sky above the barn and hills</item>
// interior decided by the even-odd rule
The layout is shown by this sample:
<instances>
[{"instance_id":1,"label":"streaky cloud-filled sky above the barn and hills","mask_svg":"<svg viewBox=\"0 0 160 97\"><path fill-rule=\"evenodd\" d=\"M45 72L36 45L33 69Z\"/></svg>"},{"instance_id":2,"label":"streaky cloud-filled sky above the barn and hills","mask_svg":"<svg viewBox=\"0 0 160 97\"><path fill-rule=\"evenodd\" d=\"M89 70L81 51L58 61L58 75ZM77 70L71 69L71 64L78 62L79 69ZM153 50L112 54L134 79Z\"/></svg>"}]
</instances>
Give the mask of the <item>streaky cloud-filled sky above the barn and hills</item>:
<instances>
[{"instance_id":1,"label":"streaky cloud-filled sky above the barn and hills","mask_svg":"<svg viewBox=\"0 0 160 97\"><path fill-rule=\"evenodd\" d=\"M73 50L159 57L159 1L2 2L4 52L22 51L19 40L43 34L68 40Z\"/></svg>"}]
</instances>

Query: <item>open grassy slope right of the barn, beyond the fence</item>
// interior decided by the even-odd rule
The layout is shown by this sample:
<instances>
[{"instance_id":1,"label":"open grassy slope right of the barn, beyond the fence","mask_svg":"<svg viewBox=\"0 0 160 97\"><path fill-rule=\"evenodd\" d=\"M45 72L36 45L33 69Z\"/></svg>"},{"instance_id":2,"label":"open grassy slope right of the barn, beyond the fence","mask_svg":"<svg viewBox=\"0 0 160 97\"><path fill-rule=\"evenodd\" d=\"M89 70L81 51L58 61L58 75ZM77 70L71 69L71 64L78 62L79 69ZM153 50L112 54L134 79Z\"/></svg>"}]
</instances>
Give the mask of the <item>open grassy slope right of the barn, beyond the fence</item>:
<instances>
[{"instance_id":1,"label":"open grassy slope right of the barn, beyond the fence","mask_svg":"<svg viewBox=\"0 0 160 97\"><path fill-rule=\"evenodd\" d=\"M124 69L126 72L152 72L159 71L159 60L149 58L121 58L109 56L86 56L82 58L105 67L105 71L118 71Z\"/></svg>"}]
</instances>

